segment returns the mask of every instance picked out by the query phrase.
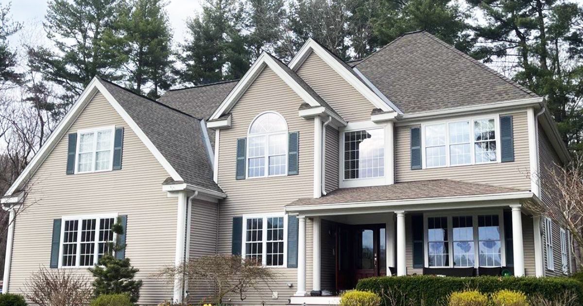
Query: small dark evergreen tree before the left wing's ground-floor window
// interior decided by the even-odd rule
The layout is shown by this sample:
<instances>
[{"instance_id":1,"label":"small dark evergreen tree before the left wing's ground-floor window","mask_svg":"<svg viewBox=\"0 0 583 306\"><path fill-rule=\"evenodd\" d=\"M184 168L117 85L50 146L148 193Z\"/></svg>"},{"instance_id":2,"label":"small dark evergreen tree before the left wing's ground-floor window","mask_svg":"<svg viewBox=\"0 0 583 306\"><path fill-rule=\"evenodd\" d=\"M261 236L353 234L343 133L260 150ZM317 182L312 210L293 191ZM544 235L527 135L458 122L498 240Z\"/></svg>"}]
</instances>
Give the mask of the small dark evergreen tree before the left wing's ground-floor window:
<instances>
[{"instance_id":1,"label":"small dark evergreen tree before the left wing's ground-floor window","mask_svg":"<svg viewBox=\"0 0 583 306\"><path fill-rule=\"evenodd\" d=\"M124 233L123 228L120 226L120 218L118 218L112 230L117 235ZM108 247L109 250L115 252L124 248L125 244L118 245L117 243L112 243ZM139 269L131 265L129 258L118 259L115 258L113 252L106 252L93 268L89 268L89 272L95 277L92 285L93 293L96 297L102 294L127 293L133 303L138 301L142 280L134 280Z\"/></svg>"}]
</instances>

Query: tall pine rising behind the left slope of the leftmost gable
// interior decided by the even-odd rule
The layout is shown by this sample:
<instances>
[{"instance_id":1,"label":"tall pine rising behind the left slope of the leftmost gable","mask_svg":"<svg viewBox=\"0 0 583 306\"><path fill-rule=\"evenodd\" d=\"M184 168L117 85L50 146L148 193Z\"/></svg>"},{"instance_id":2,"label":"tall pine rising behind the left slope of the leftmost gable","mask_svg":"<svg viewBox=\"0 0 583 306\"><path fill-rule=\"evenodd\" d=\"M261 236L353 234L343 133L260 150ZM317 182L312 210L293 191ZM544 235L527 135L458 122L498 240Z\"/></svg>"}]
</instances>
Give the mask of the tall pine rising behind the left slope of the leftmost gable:
<instances>
[{"instance_id":1,"label":"tall pine rising behind the left slope of the leftmost gable","mask_svg":"<svg viewBox=\"0 0 583 306\"><path fill-rule=\"evenodd\" d=\"M96 75L117 80L122 58L106 43L120 0L53 0L43 23L54 48L29 48L29 64L72 102Z\"/></svg>"}]
</instances>

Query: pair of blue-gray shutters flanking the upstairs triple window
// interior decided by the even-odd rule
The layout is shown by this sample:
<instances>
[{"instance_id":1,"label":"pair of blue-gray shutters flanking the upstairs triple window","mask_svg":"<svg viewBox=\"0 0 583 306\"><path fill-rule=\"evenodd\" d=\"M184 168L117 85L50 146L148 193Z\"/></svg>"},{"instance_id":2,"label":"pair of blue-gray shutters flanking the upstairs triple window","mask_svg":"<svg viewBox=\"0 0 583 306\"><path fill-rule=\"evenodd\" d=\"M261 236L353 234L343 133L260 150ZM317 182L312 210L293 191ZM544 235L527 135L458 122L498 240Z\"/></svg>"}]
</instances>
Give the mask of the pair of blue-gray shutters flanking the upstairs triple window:
<instances>
[{"instance_id":1,"label":"pair of blue-gray shutters flanking the upstairs triple window","mask_svg":"<svg viewBox=\"0 0 583 306\"><path fill-rule=\"evenodd\" d=\"M411 170L422 168L421 127L410 129L411 134ZM512 128L512 116L500 117L500 155L503 163L514 161L514 131Z\"/></svg>"}]
</instances>

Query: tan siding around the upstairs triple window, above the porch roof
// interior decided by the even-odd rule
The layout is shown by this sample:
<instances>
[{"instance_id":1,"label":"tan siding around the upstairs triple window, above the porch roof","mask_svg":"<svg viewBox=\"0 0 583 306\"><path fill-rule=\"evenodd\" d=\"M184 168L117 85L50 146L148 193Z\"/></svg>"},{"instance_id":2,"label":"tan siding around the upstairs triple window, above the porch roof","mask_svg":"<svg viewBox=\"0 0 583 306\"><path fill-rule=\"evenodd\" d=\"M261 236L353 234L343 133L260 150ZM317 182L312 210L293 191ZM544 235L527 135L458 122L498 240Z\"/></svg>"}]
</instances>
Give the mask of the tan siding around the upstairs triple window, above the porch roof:
<instances>
[{"instance_id":1,"label":"tan siding around the upstairs triple window, above the porch roof","mask_svg":"<svg viewBox=\"0 0 583 306\"><path fill-rule=\"evenodd\" d=\"M448 178L450 180L490 184L521 190L531 189L531 181L526 178L526 171L529 170L526 111L514 112L510 115L512 115L514 126L514 161L508 163L411 170L411 126L398 126L395 134L395 181L406 182ZM444 119L444 121L448 120Z\"/></svg>"}]
</instances>

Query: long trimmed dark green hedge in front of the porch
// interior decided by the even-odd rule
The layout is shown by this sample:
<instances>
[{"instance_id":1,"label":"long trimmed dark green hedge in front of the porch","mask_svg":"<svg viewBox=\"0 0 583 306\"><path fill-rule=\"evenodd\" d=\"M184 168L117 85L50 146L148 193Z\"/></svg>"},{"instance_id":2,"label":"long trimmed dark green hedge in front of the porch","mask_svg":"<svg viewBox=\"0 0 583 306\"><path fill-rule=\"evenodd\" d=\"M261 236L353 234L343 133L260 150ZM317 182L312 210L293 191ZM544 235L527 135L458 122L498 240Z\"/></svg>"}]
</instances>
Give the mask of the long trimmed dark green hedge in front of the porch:
<instances>
[{"instance_id":1,"label":"long trimmed dark green hedge in front of the porch","mask_svg":"<svg viewBox=\"0 0 583 306\"><path fill-rule=\"evenodd\" d=\"M499 290L521 291L531 297L540 294L548 300L559 297L565 291L577 294L583 305L583 286L567 277L440 277L440 276L383 276L361 279L357 290L377 293L384 305L442 305L455 291L478 290L484 294Z\"/></svg>"}]
</instances>

